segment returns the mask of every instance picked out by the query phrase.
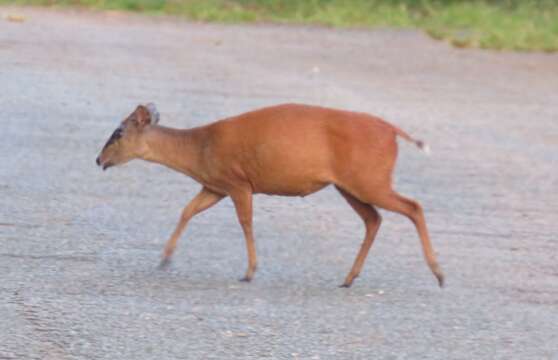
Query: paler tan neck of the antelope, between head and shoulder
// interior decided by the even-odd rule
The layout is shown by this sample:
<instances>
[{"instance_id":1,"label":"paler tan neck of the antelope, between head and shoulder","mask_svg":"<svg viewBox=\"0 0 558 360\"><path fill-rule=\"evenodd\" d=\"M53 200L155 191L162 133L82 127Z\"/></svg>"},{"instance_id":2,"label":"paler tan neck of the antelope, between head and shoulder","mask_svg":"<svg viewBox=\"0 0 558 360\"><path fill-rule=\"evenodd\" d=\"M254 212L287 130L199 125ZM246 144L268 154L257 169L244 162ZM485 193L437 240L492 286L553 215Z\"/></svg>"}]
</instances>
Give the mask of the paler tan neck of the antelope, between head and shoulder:
<instances>
[{"instance_id":1,"label":"paler tan neck of the antelope, between head and shoulder","mask_svg":"<svg viewBox=\"0 0 558 360\"><path fill-rule=\"evenodd\" d=\"M147 151L141 158L195 177L202 139L197 129L151 126L145 133Z\"/></svg>"}]
</instances>

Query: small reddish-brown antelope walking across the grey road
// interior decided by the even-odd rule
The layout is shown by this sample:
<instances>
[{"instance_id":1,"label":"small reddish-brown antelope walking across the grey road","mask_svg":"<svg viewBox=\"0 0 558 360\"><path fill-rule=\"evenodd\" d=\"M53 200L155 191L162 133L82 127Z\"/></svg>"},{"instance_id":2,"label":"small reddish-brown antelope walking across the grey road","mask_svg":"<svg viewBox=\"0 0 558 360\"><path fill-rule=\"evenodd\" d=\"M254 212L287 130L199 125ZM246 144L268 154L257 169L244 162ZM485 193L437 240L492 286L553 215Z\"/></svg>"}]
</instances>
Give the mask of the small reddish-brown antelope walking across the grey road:
<instances>
[{"instance_id":1,"label":"small reddish-brown antelope walking across the grey road","mask_svg":"<svg viewBox=\"0 0 558 360\"><path fill-rule=\"evenodd\" d=\"M248 269L241 280L250 281L256 271L252 195L306 196L333 184L366 226L342 287L350 287L360 274L378 232L381 216L376 207L403 214L415 224L426 262L443 286L421 205L392 189L396 137L425 148L401 129L364 113L298 104L267 107L192 129L158 122L155 105L139 105L110 136L97 165L105 170L139 158L202 185L182 211L161 266L169 264L188 221L230 196L248 250Z\"/></svg>"}]
</instances>

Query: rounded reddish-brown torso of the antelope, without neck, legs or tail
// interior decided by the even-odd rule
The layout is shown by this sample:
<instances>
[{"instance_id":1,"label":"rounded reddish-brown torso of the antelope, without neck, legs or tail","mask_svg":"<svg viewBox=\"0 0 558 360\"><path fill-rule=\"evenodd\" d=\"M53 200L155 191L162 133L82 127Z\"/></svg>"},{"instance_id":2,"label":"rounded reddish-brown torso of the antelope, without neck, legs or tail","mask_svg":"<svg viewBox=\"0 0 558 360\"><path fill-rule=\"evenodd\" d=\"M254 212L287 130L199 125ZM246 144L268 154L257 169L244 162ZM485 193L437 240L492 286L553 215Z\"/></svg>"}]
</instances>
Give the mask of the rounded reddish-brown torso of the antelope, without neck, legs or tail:
<instances>
[{"instance_id":1,"label":"rounded reddish-brown torso of the antelope, without neck, legs or tail","mask_svg":"<svg viewBox=\"0 0 558 360\"><path fill-rule=\"evenodd\" d=\"M212 153L222 166L238 169L254 192L280 195L307 195L342 182L359 167L374 167L382 149L395 145L395 133L380 119L298 104L259 109L210 127Z\"/></svg>"}]
</instances>

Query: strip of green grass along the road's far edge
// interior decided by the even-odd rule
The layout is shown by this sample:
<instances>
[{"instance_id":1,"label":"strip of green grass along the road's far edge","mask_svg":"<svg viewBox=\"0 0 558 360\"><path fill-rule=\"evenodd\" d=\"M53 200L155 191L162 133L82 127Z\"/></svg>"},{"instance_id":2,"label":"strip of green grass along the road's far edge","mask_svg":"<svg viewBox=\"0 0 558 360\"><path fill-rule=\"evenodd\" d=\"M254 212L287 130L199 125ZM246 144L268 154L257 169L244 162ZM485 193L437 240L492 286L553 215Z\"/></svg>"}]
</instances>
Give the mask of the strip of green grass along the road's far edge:
<instances>
[{"instance_id":1,"label":"strip of green grass along the road's far edge","mask_svg":"<svg viewBox=\"0 0 558 360\"><path fill-rule=\"evenodd\" d=\"M419 28L458 47L558 50L558 0L0 0L223 23Z\"/></svg>"}]
</instances>

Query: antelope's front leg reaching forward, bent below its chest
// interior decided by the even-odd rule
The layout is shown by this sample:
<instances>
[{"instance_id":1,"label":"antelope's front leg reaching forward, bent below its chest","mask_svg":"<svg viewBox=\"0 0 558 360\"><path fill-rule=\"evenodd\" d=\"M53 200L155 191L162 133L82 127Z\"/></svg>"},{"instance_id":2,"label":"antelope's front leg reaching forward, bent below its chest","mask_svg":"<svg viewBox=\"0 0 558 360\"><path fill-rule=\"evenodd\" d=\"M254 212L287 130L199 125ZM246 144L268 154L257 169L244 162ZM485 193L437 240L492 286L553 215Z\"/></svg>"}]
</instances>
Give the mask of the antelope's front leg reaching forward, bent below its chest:
<instances>
[{"instance_id":1,"label":"antelope's front leg reaching forward, bent below its chest","mask_svg":"<svg viewBox=\"0 0 558 360\"><path fill-rule=\"evenodd\" d=\"M219 202L224 196L214 193L213 191L202 188L200 192L186 205L180 216L180 220L174 229L170 239L165 245L165 250L163 252L163 259L161 260L160 267L166 267L170 263L171 256L176 248L176 243L180 238L180 235L184 231L184 228L188 224L188 221L196 214L209 209L211 206Z\"/></svg>"}]
</instances>

